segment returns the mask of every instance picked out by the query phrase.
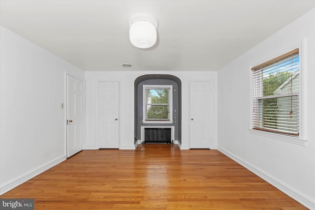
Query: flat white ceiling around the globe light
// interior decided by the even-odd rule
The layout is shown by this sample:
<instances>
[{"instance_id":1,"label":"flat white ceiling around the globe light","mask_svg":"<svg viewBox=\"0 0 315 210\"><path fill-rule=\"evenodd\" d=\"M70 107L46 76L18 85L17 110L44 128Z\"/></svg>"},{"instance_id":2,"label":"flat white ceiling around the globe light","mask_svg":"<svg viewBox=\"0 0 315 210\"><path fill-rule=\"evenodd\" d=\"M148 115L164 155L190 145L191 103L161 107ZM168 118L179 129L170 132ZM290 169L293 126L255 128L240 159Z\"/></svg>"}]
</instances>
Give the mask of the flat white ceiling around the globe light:
<instances>
[{"instance_id":1,"label":"flat white ceiling around the globe light","mask_svg":"<svg viewBox=\"0 0 315 210\"><path fill-rule=\"evenodd\" d=\"M0 0L0 25L85 71L217 71L314 7L315 0ZM158 19L152 48L129 42L135 13Z\"/></svg>"}]
</instances>

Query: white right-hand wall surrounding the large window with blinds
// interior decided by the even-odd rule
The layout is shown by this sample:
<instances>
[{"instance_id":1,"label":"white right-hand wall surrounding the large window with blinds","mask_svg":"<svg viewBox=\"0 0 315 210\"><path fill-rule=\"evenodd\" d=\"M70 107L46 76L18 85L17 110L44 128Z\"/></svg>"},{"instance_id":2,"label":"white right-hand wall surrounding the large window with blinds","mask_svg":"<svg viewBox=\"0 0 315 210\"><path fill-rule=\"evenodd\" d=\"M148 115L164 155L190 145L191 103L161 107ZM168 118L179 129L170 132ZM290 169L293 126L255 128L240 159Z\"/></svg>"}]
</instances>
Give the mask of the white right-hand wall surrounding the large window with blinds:
<instances>
[{"instance_id":1,"label":"white right-hand wall surrounding the large window with blinds","mask_svg":"<svg viewBox=\"0 0 315 210\"><path fill-rule=\"evenodd\" d=\"M302 46L302 139L251 131L251 67ZM315 209L315 9L218 73L218 148L310 209ZM279 135L278 135L279 136ZM303 146L304 141L307 140ZM299 145L302 144L302 145Z\"/></svg>"}]
</instances>

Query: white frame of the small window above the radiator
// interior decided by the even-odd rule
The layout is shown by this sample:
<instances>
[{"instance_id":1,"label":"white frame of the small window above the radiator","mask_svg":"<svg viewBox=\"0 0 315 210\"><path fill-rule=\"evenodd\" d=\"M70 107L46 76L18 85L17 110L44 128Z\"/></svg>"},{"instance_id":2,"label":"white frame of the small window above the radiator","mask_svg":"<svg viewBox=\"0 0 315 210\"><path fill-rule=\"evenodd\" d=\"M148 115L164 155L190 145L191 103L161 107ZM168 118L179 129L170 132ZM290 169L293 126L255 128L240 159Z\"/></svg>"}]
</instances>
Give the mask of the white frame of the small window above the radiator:
<instances>
[{"instance_id":1,"label":"white frame of the small window above the radiator","mask_svg":"<svg viewBox=\"0 0 315 210\"><path fill-rule=\"evenodd\" d=\"M147 89L167 89L168 90L168 106L169 106L169 120L146 120L146 90ZM172 85L143 85L142 86L142 122L143 123L156 123L156 124L171 124L173 123L173 86Z\"/></svg>"}]
</instances>

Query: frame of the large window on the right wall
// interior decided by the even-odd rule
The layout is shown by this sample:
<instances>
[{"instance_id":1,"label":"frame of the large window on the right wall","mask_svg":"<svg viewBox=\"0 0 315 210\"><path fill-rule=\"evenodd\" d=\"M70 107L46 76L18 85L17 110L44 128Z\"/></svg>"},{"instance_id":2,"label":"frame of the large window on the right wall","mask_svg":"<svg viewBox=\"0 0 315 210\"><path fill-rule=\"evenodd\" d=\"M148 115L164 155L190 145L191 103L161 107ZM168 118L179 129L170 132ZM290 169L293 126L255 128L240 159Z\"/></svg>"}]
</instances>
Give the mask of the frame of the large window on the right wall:
<instances>
[{"instance_id":1,"label":"frame of the large window on the right wall","mask_svg":"<svg viewBox=\"0 0 315 210\"><path fill-rule=\"evenodd\" d=\"M288 137L289 142L292 142L292 139L298 139L296 141L297 144L299 145L304 145L306 143L305 140L302 139L302 97L301 96L301 91L303 88L303 83L302 83L302 52L301 52L301 47L295 47L293 48L294 50L288 50L286 53L281 54L280 56L275 56L272 59L268 59L265 62L261 62L261 64L256 65L251 68L251 132L258 134L258 135L264 135L265 136L280 136L280 140L284 140L285 137ZM299 55L299 68L297 71L299 71L299 91L298 92L293 92L293 93L283 93L283 94L275 94L275 95L267 95L267 96L262 96L262 91L263 91L263 76L256 77L255 79L253 78L253 75L255 74L256 70L259 70L262 66L266 66L267 64L274 63L275 61L282 60L288 55L293 55L294 53L298 53ZM262 71L263 69L260 69ZM254 125L254 123L260 124L260 101L261 99L268 99L268 98L281 98L281 97L288 97L288 96L297 96L298 98L298 133L297 134L292 134L289 132L282 132L281 130L273 130L273 129L268 129L265 127L258 127L259 125ZM256 111L254 111L256 109ZM257 117L258 116L258 117ZM256 118L256 119L254 119ZM282 137L281 137L282 136Z\"/></svg>"}]
</instances>

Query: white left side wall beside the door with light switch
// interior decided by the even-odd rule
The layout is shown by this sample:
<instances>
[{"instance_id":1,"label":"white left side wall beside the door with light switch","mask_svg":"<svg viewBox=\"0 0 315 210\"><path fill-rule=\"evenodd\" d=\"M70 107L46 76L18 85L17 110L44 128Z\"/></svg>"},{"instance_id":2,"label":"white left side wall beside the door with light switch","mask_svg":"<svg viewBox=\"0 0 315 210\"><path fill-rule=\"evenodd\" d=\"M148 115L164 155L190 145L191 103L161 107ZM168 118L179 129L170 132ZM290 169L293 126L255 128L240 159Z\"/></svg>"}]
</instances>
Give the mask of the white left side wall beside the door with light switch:
<instances>
[{"instance_id":1,"label":"white left side wall beside the door with light switch","mask_svg":"<svg viewBox=\"0 0 315 210\"><path fill-rule=\"evenodd\" d=\"M66 158L65 72L84 72L0 27L0 194Z\"/></svg>"}]
</instances>

